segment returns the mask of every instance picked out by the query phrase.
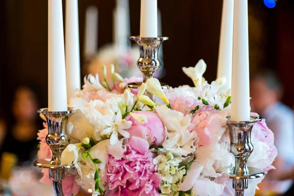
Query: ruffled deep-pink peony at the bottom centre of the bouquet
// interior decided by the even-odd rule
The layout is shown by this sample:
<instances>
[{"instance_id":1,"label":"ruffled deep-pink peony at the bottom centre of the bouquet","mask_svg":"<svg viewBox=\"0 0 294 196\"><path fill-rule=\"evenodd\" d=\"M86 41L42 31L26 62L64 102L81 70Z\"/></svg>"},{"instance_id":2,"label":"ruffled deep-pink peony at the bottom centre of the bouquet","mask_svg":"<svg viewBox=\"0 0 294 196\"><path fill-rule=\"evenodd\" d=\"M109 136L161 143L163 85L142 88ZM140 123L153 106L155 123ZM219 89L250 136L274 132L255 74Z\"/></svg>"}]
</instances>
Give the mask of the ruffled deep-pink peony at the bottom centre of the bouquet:
<instances>
[{"instance_id":1,"label":"ruffled deep-pink peony at the bottom centre of the bouquet","mask_svg":"<svg viewBox=\"0 0 294 196\"><path fill-rule=\"evenodd\" d=\"M105 195L159 196L161 176L156 172L155 154L148 151L147 141L133 136L125 147L122 159L109 155L105 171L109 190Z\"/></svg>"}]
</instances>

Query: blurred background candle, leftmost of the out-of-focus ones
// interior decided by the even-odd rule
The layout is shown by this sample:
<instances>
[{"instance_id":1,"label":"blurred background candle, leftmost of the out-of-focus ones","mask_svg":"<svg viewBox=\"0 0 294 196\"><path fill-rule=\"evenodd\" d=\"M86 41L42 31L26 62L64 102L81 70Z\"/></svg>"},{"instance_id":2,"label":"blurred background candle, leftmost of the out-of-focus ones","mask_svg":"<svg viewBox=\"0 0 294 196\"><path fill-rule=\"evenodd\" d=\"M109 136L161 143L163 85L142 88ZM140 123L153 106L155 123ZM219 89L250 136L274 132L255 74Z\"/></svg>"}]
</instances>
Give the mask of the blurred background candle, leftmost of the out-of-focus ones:
<instances>
[{"instance_id":1,"label":"blurred background candle, leftmost of the out-of-focus ones","mask_svg":"<svg viewBox=\"0 0 294 196\"><path fill-rule=\"evenodd\" d=\"M86 9L84 33L84 57L89 60L98 48L98 9L94 5Z\"/></svg>"}]
</instances>

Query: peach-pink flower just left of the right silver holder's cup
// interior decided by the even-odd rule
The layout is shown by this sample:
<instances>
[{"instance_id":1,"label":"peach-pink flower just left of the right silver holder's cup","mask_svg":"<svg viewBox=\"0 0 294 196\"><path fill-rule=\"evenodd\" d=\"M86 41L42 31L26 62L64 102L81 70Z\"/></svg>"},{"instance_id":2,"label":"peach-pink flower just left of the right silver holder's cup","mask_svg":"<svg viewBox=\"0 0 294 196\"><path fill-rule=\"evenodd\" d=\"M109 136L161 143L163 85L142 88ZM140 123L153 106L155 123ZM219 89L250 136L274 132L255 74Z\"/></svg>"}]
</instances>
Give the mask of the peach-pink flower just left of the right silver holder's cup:
<instances>
[{"instance_id":1,"label":"peach-pink flower just left of the right silver holder's cup","mask_svg":"<svg viewBox=\"0 0 294 196\"><path fill-rule=\"evenodd\" d=\"M218 110L215 110L218 111ZM216 143L221 139L225 131L226 113L218 111L214 112L199 112L197 113L192 123L199 137L199 146L208 146L211 143Z\"/></svg>"}]
</instances>

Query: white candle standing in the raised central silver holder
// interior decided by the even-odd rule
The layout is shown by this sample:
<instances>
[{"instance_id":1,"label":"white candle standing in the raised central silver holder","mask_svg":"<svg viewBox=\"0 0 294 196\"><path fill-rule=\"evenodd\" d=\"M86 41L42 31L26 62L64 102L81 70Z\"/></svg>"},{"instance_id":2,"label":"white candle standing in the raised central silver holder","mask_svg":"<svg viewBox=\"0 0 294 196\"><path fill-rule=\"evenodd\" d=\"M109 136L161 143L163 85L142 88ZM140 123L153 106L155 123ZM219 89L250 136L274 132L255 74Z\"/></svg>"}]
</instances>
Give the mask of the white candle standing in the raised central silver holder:
<instances>
[{"instance_id":1,"label":"white candle standing in the raised central silver holder","mask_svg":"<svg viewBox=\"0 0 294 196\"><path fill-rule=\"evenodd\" d=\"M157 36L157 0L141 0L140 37Z\"/></svg>"}]
</instances>

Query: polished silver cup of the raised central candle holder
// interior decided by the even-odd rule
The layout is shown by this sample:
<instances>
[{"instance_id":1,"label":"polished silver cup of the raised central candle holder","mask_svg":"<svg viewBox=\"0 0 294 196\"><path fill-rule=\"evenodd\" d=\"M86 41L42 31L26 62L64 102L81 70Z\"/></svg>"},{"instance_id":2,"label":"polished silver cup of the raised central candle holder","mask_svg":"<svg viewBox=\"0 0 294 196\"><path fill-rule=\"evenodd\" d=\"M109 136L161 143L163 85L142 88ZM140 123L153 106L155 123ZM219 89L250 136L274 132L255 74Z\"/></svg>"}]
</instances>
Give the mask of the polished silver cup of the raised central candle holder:
<instances>
[{"instance_id":1,"label":"polished silver cup of the raised central candle holder","mask_svg":"<svg viewBox=\"0 0 294 196\"><path fill-rule=\"evenodd\" d=\"M131 36L130 40L134 40L139 45L140 58L137 61L137 66L143 73L143 82L154 76L154 73L160 67L158 58L158 49L161 43L168 40L168 37L135 37Z\"/></svg>"}]
</instances>

